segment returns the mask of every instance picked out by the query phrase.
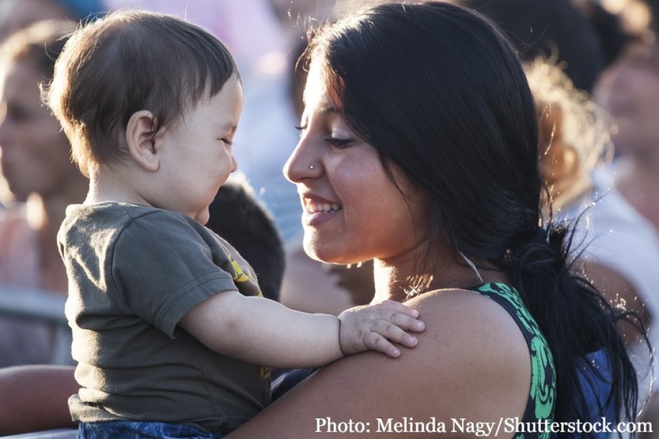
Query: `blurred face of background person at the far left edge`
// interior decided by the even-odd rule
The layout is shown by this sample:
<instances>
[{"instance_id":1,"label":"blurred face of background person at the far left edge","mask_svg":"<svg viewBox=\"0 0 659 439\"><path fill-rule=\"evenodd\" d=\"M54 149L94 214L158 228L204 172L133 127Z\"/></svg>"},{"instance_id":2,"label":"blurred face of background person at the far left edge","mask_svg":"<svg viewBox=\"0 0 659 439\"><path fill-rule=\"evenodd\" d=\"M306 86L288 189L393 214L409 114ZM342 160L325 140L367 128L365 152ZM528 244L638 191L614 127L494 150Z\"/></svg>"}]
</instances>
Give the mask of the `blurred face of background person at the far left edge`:
<instances>
[{"instance_id":1,"label":"blurred face of background person at the far left edge","mask_svg":"<svg viewBox=\"0 0 659 439\"><path fill-rule=\"evenodd\" d=\"M19 198L48 195L79 174L67 137L41 104L41 81L41 71L27 61L0 73L0 165Z\"/></svg>"}]
</instances>

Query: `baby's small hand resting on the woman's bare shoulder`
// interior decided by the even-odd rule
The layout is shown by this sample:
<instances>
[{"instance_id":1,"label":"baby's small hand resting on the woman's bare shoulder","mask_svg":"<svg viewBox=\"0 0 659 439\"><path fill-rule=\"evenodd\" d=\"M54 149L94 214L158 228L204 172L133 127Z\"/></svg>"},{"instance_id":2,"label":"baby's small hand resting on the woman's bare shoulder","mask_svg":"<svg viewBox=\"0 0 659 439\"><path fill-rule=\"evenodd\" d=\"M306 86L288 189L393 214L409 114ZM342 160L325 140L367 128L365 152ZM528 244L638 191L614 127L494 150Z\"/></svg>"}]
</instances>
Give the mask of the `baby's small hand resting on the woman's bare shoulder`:
<instances>
[{"instance_id":1,"label":"baby's small hand resting on the woman's bare shoulder","mask_svg":"<svg viewBox=\"0 0 659 439\"><path fill-rule=\"evenodd\" d=\"M350 355L372 349L389 357L398 357L400 349L391 342L408 348L416 346L417 337L405 331L421 332L425 329L424 322L416 320L417 317L419 311L393 300L346 309L338 316L341 351Z\"/></svg>"}]
</instances>

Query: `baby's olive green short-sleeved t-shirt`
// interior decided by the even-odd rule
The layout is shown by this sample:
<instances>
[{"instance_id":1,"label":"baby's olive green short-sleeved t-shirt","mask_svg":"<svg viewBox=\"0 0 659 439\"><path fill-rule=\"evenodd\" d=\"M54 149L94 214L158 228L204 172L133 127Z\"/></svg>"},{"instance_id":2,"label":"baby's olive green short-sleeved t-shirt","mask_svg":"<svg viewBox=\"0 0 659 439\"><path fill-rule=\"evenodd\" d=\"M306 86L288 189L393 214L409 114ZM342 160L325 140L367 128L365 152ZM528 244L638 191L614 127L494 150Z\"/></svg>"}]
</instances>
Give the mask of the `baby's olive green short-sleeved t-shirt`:
<instances>
[{"instance_id":1,"label":"baby's olive green short-sleeved t-shirt","mask_svg":"<svg viewBox=\"0 0 659 439\"><path fill-rule=\"evenodd\" d=\"M181 213L106 202L69 206L58 246L82 387L69 399L74 420L227 433L268 405L267 368L215 353L177 326L219 292L261 294L227 241Z\"/></svg>"}]
</instances>

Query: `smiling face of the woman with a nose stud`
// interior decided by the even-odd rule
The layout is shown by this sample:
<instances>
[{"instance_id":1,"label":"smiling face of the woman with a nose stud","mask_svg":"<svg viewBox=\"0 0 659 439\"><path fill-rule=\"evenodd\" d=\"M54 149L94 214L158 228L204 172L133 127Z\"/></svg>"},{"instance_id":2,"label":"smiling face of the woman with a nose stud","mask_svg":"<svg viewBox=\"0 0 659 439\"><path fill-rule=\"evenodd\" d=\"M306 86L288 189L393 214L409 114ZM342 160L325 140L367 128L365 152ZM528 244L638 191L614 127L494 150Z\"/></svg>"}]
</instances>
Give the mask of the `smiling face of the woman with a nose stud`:
<instances>
[{"instance_id":1,"label":"smiling face of the woman with a nose stud","mask_svg":"<svg viewBox=\"0 0 659 439\"><path fill-rule=\"evenodd\" d=\"M305 251L344 264L413 254L426 232L426 192L392 163L396 187L375 148L334 106L317 63L305 87L301 128L284 174L300 194Z\"/></svg>"}]
</instances>

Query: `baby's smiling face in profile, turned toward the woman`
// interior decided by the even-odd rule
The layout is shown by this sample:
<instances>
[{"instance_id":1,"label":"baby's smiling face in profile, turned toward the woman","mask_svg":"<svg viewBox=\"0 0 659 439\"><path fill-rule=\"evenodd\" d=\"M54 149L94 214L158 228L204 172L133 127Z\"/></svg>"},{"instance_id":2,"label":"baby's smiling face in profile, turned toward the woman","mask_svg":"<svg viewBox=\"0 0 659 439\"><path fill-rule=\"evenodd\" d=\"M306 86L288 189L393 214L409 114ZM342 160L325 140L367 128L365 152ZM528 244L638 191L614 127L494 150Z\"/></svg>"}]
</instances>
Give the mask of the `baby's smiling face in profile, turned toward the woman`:
<instances>
[{"instance_id":1,"label":"baby's smiling face in profile, turned toward the woman","mask_svg":"<svg viewBox=\"0 0 659 439\"><path fill-rule=\"evenodd\" d=\"M159 172L163 183L158 207L181 212L202 224L220 186L238 168L231 143L242 110L242 86L232 77L220 93L187 110L183 121L165 130Z\"/></svg>"}]
</instances>

